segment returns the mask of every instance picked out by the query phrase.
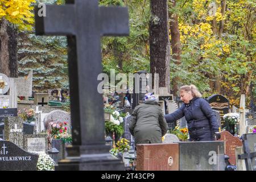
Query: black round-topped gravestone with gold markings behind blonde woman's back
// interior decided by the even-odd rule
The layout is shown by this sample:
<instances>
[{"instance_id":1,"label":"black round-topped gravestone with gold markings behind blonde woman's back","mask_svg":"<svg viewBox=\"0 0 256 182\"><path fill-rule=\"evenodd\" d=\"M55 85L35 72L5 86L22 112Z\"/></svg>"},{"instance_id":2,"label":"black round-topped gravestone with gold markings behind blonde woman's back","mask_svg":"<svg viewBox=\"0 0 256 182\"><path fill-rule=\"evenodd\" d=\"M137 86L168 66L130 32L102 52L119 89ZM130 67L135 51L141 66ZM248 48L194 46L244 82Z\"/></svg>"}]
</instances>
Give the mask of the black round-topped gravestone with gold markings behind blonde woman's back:
<instances>
[{"instance_id":1,"label":"black round-topped gravestone with gold markings behind blonde woman's back","mask_svg":"<svg viewBox=\"0 0 256 182\"><path fill-rule=\"evenodd\" d=\"M208 102L210 107L212 107L213 110L217 110L220 112L221 117L221 129L224 127L228 127L228 122L225 122L223 115L229 113L229 100L228 98L221 96L219 94L215 94L213 96L210 96L208 98Z\"/></svg>"}]
</instances>

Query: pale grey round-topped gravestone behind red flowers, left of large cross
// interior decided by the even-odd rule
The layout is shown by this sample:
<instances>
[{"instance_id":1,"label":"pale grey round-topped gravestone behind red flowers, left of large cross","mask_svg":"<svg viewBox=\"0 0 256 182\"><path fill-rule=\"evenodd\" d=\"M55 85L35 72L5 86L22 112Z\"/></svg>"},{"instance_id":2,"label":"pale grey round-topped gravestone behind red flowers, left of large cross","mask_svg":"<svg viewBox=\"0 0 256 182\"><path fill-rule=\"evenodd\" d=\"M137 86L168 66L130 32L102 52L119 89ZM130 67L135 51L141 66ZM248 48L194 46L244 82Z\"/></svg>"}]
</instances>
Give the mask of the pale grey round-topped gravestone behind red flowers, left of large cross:
<instances>
[{"instance_id":1,"label":"pale grey round-topped gravestone behind red flowers, left of large cross","mask_svg":"<svg viewBox=\"0 0 256 182\"><path fill-rule=\"evenodd\" d=\"M71 131L71 115L67 113L66 111L63 110L53 110L49 112L45 117L44 117L44 127L45 129L48 128L48 125L50 122L53 123L60 123L60 122L67 122L68 123L68 132L70 133Z\"/></svg>"}]
</instances>

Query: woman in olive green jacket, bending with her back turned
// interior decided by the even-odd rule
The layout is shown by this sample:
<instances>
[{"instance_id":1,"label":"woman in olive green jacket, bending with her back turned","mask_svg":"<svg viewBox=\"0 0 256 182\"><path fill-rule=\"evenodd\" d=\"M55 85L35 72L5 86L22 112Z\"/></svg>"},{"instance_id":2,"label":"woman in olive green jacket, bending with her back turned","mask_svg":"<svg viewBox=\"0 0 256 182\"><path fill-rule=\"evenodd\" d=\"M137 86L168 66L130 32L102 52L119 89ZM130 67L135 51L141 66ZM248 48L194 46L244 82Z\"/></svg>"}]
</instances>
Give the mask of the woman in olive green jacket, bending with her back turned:
<instances>
[{"instance_id":1,"label":"woman in olive green jacket, bending with her back turned","mask_svg":"<svg viewBox=\"0 0 256 182\"><path fill-rule=\"evenodd\" d=\"M135 144L162 143L167 133L167 123L156 97L146 94L144 104L135 107L131 114L129 130L134 136Z\"/></svg>"}]
</instances>

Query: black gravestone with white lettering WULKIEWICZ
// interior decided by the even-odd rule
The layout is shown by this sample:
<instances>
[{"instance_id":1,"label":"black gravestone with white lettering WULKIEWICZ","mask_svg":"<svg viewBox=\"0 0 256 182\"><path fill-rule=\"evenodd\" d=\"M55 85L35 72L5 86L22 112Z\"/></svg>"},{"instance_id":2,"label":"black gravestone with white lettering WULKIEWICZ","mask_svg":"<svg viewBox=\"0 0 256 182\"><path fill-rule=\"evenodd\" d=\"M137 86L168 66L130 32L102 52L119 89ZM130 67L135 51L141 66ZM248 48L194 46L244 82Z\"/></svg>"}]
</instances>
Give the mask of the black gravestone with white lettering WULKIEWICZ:
<instances>
[{"instance_id":1,"label":"black gravestone with white lettering WULKIEWICZ","mask_svg":"<svg viewBox=\"0 0 256 182\"><path fill-rule=\"evenodd\" d=\"M24 151L14 143L0 140L0 171L36 171L39 155Z\"/></svg>"}]
</instances>

